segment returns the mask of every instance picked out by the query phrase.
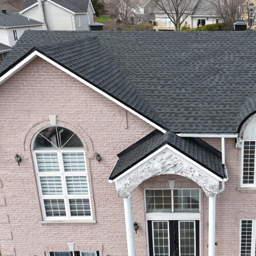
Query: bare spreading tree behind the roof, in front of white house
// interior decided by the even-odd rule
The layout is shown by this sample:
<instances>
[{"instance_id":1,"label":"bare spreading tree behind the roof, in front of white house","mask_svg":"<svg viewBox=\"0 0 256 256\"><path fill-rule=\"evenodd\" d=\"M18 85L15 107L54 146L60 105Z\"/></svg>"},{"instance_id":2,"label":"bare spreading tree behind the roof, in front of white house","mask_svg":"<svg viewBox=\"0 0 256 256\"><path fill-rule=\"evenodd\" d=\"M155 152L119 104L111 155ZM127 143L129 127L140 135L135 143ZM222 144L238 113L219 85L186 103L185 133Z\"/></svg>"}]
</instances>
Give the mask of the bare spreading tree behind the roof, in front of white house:
<instances>
[{"instance_id":1,"label":"bare spreading tree behind the roof, in front of white house","mask_svg":"<svg viewBox=\"0 0 256 256\"><path fill-rule=\"evenodd\" d=\"M156 8L164 12L175 26L176 31L180 31L181 25L191 14L200 0L152 0Z\"/></svg>"}]
</instances>

